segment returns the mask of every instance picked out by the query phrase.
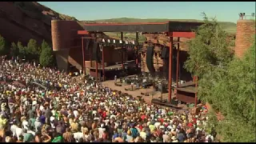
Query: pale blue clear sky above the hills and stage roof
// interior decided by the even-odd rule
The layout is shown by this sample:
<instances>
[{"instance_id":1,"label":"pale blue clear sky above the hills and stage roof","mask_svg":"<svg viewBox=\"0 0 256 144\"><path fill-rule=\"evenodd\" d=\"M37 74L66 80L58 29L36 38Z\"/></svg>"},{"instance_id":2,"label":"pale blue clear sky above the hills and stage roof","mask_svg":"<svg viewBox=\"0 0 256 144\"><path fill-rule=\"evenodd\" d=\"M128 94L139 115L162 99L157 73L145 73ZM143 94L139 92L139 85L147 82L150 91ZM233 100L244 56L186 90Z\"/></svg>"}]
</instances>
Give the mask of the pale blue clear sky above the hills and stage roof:
<instances>
[{"instance_id":1,"label":"pale blue clear sky above the hills and stage roof","mask_svg":"<svg viewBox=\"0 0 256 144\"><path fill-rule=\"evenodd\" d=\"M108 18L202 19L237 22L238 13L255 13L255 2L39 2L78 20Z\"/></svg>"}]
</instances>

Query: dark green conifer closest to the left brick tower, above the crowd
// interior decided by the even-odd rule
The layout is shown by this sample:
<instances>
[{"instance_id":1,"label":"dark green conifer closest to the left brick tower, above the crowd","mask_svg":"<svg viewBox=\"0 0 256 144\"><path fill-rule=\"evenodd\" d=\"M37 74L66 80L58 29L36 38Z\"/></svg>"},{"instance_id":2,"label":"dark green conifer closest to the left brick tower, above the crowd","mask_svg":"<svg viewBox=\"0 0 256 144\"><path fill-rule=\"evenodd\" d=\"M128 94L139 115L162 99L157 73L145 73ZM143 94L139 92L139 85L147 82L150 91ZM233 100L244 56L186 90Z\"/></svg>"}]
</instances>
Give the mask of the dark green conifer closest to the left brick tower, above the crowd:
<instances>
[{"instance_id":1,"label":"dark green conifer closest to the left brick tower, above the crowd","mask_svg":"<svg viewBox=\"0 0 256 144\"><path fill-rule=\"evenodd\" d=\"M42 52L40 54L40 64L42 66L52 66L54 55L51 47L44 40L42 41Z\"/></svg>"}]
</instances>

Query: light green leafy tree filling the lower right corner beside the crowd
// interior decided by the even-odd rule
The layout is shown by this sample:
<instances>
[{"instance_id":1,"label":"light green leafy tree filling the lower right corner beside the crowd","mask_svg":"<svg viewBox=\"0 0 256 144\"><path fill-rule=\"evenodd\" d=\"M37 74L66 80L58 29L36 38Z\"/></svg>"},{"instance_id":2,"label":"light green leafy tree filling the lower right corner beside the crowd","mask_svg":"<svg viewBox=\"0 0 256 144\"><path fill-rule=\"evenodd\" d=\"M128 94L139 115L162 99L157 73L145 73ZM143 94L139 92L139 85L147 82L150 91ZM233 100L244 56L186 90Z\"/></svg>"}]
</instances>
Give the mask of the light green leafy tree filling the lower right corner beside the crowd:
<instances>
[{"instance_id":1,"label":"light green leafy tree filling the lower right corner beside the crowd","mask_svg":"<svg viewBox=\"0 0 256 144\"><path fill-rule=\"evenodd\" d=\"M242 59L215 68L199 81L199 95L225 119L216 130L225 142L255 142L255 44Z\"/></svg>"}]
</instances>

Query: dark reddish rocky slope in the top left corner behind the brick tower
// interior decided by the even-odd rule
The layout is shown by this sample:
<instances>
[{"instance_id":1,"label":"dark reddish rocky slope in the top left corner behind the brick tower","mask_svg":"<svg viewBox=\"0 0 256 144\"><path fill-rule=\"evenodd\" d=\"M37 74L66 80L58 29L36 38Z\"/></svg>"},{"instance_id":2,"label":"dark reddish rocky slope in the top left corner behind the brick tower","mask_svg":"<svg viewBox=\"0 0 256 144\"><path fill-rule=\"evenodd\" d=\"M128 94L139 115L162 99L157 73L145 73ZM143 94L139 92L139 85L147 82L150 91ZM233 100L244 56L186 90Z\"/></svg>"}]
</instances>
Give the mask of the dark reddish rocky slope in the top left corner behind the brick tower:
<instances>
[{"instance_id":1,"label":"dark reddish rocky slope in the top left corner behind the brick tower","mask_svg":"<svg viewBox=\"0 0 256 144\"><path fill-rule=\"evenodd\" d=\"M38 2L0 2L0 34L7 42L26 42L34 38L38 43L43 39L51 43L52 19L76 20L58 14Z\"/></svg>"}]
</instances>

